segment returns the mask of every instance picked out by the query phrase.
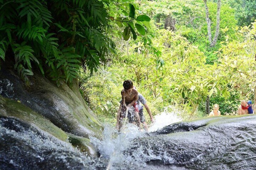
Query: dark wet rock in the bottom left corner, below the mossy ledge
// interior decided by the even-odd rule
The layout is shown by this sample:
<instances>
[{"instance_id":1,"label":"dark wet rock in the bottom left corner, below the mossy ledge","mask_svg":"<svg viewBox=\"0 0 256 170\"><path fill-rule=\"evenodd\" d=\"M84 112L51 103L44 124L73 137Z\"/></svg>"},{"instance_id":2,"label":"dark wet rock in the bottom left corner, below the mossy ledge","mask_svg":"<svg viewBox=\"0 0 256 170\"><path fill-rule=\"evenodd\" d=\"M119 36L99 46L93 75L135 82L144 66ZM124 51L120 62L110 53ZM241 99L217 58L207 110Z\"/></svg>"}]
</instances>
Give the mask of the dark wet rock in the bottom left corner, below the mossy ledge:
<instances>
[{"instance_id":1,"label":"dark wet rock in the bottom left corner, below the mossy ledge","mask_svg":"<svg viewBox=\"0 0 256 170\"><path fill-rule=\"evenodd\" d=\"M1 117L0 136L0 169L89 168L90 160L71 144L26 122Z\"/></svg>"}]
</instances>

